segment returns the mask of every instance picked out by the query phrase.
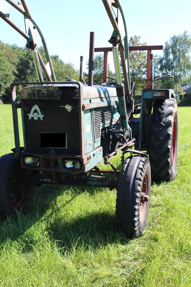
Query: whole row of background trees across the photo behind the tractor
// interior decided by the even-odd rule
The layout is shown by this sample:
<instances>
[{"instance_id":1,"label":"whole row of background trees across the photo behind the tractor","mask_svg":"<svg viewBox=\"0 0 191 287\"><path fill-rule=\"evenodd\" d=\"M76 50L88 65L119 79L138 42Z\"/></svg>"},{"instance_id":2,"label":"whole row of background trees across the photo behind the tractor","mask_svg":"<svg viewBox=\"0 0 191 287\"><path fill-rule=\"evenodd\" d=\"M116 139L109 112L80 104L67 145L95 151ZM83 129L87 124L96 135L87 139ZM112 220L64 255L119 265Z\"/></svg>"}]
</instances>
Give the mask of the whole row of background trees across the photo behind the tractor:
<instances>
[{"instance_id":1,"label":"whole row of background trees across the photo behind the tractor","mask_svg":"<svg viewBox=\"0 0 191 287\"><path fill-rule=\"evenodd\" d=\"M129 46L142 46L140 36L130 37ZM39 48L46 63L43 48ZM162 79L155 82L156 88L172 88L181 91L182 86L191 83L191 35L184 31L174 35L164 45L163 56L154 59L154 76L160 77L172 74L172 79ZM68 78L79 79L79 71L71 63L64 63L58 55L51 56L57 81ZM88 65L88 62L87 62ZM147 53L145 51L130 51L130 76L135 82L134 94L140 94L146 84ZM94 82L103 83L103 55L97 54L94 59ZM110 66L108 76L115 77ZM88 74L84 73L87 81ZM36 82L36 71L32 54L27 48L17 47L0 42L0 96L4 102L10 101L10 84L12 82Z\"/></svg>"}]
</instances>

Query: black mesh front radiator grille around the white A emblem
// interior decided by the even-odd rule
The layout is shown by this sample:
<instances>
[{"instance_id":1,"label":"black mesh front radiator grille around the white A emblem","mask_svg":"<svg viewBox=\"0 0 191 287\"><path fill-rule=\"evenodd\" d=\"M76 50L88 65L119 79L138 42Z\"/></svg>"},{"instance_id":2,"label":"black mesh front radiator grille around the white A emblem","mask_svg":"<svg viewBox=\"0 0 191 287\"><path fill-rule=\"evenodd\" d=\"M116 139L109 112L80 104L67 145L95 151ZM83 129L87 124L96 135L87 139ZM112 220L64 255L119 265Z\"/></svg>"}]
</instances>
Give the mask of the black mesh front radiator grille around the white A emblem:
<instances>
[{"instance_id":1,"label":"black mesh front radiator grille around the white A emblem","mask_svg":"<svg viewBox=\"0 0 191 287\"><path fill-rule=\"evenodd\" d=\"M56 153L80 154L80 128L78 100L72 100L75 88L63 88L60 100L23 99L27 151L49 152L50 148L41 148L41 132L66 133L67 148L54 148ZM43 120L29 120L28 114L34 105L38 105ZM71 112L65 107L70 105Z\"/></svg>"}]
</instances>

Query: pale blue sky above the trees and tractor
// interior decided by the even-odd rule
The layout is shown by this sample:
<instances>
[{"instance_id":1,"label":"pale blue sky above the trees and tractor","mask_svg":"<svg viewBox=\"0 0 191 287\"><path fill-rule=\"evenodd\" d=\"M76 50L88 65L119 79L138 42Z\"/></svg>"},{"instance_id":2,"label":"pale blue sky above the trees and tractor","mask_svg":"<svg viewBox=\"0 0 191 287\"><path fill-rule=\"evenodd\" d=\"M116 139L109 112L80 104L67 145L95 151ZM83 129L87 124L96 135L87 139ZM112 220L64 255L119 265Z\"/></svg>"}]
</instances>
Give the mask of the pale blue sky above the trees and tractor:
<instances>
[{"instance_id":1,"label":"pale blue sky above the trees and tractor","mask_svg":"<svg viewBox=\"0 0 191 287\"><path fill-rule=\"evenodd\" d=\"M4 1L4 0L0 0ZM89 56L90 32L95 47L109 47L113 32L101 0L26 0L31 15L41 28L50 54L79 68L80 56ZM141 36L147 45L164 45L170 36L187 30L191 34L191 1L121 0L128 37ZM24 30L23 16L11 8L10 19ZM26 40L0 18L0 40L24 47ZM40 46L40 43L39 43ZM155 52L160 54L160 52ZM112 61L112 55L110 55ZM112 63L111 63L112 66Z\"/></svg>"}]
</instances>

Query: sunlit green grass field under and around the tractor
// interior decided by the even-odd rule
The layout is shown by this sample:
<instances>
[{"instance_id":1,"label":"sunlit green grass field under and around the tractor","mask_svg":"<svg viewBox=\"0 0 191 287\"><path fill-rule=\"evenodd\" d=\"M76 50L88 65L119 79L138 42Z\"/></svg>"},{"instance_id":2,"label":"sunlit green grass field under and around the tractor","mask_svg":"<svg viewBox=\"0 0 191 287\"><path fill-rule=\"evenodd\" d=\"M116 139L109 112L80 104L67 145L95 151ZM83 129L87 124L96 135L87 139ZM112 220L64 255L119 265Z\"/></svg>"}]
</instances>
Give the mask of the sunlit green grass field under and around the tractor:
<instances>
[{"instance_id":1,"label":"sunlit green grass field under and around the tractor","mask_svg":"<svg viewBox=\"0 0 191 287\"><path fill-rule=\"evenodd\" d=\"M178 112L178 175L152 183L141 238L117 232L116 190L58 186L56 209L41 186L27 213L0 222L0 286L191 286L191 107ZM14 147L11 116L0 105L0 155Z\"/></svg>"}]
</instances>

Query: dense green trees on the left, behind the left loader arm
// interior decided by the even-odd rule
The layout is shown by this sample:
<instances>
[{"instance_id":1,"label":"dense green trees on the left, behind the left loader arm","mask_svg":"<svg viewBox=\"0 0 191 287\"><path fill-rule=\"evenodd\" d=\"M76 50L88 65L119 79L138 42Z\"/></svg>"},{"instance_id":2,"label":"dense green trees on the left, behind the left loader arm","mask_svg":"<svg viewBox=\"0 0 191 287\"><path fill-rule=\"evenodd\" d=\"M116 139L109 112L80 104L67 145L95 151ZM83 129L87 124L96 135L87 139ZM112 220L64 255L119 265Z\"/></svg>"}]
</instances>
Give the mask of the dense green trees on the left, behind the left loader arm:
<instances>
[{"instance_id":1,"label":"dense green trees on the left, behind the left loader arm","mask_svg":"<svg viewBox=\"0 0 191 287\"><path fill-rule=\"evenodd\" d=\"M38 50L46 63L44 49ZM79 79L79 71L71 63L64 63L58 55L52 55L51 60L57 81ZM33 57L27 48L0 42L0 96L5 103L10 102L10 84L13 82L38 82Z\"/></svg>"}]
</instances>

